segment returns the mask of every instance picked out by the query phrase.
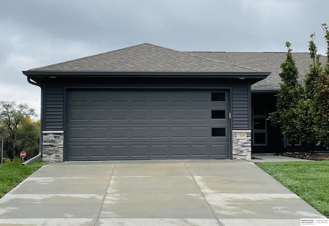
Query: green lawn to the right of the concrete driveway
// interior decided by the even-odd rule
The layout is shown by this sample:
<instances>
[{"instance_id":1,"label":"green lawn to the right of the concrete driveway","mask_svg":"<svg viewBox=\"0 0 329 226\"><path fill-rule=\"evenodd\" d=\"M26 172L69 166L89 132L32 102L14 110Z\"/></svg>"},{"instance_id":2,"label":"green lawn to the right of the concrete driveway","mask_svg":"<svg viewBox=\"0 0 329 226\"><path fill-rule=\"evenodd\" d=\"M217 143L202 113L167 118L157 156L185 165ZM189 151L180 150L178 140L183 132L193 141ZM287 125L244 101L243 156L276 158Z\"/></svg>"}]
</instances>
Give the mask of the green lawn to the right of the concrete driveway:
<instances>
[{"instance_id":1,"label":"green lawn to the right of the concrete driveway","mask_svg":"<svg viewBox=\"0 0 329 226\"><path fill-rule=\"evenodd\" d=\"M264 162L258 165L329 217L329 161Z\"/></svg>"}]
</instances>

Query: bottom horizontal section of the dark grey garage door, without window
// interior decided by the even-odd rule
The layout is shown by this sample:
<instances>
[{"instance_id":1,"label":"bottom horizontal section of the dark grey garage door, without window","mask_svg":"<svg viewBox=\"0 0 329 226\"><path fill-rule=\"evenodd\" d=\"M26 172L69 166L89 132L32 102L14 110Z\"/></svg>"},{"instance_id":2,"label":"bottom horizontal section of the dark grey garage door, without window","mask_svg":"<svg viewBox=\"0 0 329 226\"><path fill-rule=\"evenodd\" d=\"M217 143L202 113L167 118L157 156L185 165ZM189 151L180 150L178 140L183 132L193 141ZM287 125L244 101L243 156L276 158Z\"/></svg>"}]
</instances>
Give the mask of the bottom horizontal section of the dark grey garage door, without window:
<instances>
[{"instance_id":1,"label":"bottom horizontal section of the dark grey garage door, without window","mask_svg":"<svg viewBox=\"0 0 329 226\"><path fill-rule=\"evenodd\" d=\"M73 143L68 147L70 160L226 158L228 144L212 143Z\"/></svg>"}]
</instances>

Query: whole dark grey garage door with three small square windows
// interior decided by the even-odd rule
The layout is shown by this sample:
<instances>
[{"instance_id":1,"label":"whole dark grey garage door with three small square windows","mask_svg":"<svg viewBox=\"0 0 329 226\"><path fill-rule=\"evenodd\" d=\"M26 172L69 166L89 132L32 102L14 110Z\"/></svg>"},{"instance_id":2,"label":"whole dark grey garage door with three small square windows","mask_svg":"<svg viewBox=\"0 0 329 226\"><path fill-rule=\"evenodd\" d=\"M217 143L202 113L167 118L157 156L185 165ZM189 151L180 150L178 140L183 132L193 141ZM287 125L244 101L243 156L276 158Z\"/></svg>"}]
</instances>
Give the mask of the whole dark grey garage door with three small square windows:
<instances>
[{"instance_id":1,"label":"whole dark grey garage door with three small square windows","mask_svg":"<svg viewBox=\"0 0 329 226\"><path fill-rule=\"evenodd\" d=\"M69 90L67 160L227 159L229 92Z\"/></svg>"}]
</instances>

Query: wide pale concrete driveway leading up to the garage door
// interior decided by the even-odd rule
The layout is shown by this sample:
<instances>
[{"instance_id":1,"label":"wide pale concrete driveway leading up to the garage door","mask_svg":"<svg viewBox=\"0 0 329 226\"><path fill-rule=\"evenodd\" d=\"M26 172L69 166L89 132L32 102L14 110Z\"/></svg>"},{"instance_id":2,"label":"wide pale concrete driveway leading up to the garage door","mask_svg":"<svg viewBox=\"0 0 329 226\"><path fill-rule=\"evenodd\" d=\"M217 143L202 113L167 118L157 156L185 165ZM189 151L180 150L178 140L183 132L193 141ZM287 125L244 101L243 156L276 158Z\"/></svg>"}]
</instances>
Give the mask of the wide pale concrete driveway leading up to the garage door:
<instances>
[{"instance_id":1,"label":"wide pale concrete driveway leading up to the garage door","mask_svg":"<svg viewBox=\"0 0 329 226\"><path fill-rule=\"evenodd\" d=\"M50 163L0 199L0 225L300 225L325 218L247 161Z\"/></svg>"}]
</instances>

